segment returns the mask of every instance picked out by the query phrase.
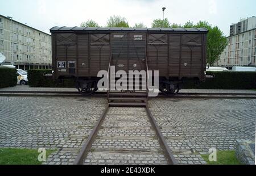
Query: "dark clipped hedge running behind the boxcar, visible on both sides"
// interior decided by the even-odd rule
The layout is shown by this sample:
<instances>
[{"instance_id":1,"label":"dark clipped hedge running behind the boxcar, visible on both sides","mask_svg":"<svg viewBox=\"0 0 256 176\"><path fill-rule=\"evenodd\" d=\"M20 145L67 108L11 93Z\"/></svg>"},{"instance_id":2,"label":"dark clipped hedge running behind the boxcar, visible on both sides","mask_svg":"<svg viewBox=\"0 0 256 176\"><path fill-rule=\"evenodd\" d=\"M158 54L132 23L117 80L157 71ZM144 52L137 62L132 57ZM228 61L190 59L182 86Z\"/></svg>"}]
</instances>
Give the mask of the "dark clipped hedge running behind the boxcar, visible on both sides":
<instances>
[{"instance_id":1,"label":"dark clipped hedge running behind the boxcar, visible on both sides","mask_svg":"<svg viewBox=\"0 0 256 176\"><path fill-rule=\"evenodd\" d=\"M52 70L28 70L28 85L31 87L75 87L75 80L64 79L58 83L52 78L44 77L44 73L51 73ZM255 89L255 72L207 72L213 75L213 79L207 79L200 85L192 81L185 82L183 89Z\"/></svg>"}]
</instances>

